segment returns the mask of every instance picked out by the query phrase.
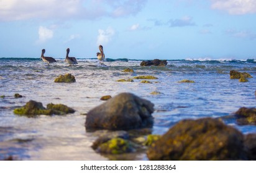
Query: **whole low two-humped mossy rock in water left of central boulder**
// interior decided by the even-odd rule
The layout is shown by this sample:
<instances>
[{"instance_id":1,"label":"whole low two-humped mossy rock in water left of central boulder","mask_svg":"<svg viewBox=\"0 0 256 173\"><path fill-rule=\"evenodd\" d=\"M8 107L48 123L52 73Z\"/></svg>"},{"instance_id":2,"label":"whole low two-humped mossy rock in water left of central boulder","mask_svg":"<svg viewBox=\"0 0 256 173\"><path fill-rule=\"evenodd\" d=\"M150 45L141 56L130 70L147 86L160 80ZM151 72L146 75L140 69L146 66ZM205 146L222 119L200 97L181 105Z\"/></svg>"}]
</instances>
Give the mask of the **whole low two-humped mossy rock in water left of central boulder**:
<instances>
[{"instance_id":1,"label":"whole low two-humped mossy rock in water left of central boulder","mask_svg":"<svg viewBox=\"0 0 256 173\"><path fill-rule=\"evenodd\" d=\"M74 109L68 108L64 104L48 104L47 109L43 104L34 100L30 100L22 108L14 109L14 114L27 117L35 117L38 115L64 115L75 112Z\"/></svg>"}]
</instances>

